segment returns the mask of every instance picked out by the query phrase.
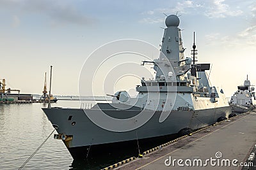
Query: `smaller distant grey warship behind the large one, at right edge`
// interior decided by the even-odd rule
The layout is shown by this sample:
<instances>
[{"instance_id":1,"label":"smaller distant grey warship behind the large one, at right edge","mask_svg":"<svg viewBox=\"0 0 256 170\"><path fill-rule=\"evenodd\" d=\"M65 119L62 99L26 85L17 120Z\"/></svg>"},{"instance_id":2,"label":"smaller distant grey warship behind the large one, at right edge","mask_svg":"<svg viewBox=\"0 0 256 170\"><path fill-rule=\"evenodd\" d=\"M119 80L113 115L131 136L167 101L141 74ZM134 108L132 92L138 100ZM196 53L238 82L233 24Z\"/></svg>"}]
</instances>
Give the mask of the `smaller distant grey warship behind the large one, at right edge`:
<instances>
[{"instance_id":1,"label":"smaller distant grey warship behind the large one, at right edge","mask_svg":"<svg viewBox=\"0 0 256 170\"><path fill-rule=\"evenodd\" d=\"M237 91L230 98L230 106L232 106L232 112L244 113L254 109L256 104L254 90L255 88L253 85L251 85L247 75L246 80L244 80L244 85L237 86Z\"/></svg>"}]
</instances>

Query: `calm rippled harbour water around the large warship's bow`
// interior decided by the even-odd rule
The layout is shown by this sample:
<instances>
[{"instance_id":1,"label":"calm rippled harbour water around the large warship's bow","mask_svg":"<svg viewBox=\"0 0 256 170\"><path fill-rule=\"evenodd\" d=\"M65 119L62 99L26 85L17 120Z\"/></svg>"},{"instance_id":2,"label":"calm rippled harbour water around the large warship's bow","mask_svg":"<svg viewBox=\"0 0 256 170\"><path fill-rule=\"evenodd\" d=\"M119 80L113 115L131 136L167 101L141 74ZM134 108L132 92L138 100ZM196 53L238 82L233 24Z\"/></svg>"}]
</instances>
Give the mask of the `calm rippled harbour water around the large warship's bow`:
<instances>
[{"instance_id":1,"label":"calm rippled harbour water around the large warship's bow","mask_svg":"<svg viewBox=\"0 0 256 170\"><path fill-rule=\"evenodd\" d=\"M58 101L53 106L80 108L81 104ZM18 169L54 130L41 109L45 107L44 103L0 104L0 169ZM22 169L101 169L131 156L73 160L52 134Z\"/></svg>"}]
</instances>

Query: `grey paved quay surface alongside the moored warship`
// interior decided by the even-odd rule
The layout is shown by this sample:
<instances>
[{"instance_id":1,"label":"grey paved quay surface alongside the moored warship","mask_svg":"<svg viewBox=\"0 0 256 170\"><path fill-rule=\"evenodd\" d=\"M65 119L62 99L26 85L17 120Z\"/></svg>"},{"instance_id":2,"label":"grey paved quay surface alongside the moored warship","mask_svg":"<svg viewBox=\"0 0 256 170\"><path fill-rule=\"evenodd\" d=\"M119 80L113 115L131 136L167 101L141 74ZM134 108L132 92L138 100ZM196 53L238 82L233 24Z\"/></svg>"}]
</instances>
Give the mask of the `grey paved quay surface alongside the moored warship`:
<instances>
[{"instance_id":1,"label":"grey paved quay surface alongside the moored warship","mask_svg":"<svg viewBox=\"0 0 256 170\"><path fill-rule=\"evenodd\" d=\"M241 163L255 162L255 159L248 161L256 148L255 144L256 113L251 111L180 139L162 150L148 153L116 169L242 169ZM173 159L176 159L174 165ZM178 159L182 159L181 166L178 165ZM207 159L212 159L212 162L208 160L205 163ZM229 166L226 160L230 162ZM243 169L256 169L256 165Z\"/></svg>"}]
</instances>

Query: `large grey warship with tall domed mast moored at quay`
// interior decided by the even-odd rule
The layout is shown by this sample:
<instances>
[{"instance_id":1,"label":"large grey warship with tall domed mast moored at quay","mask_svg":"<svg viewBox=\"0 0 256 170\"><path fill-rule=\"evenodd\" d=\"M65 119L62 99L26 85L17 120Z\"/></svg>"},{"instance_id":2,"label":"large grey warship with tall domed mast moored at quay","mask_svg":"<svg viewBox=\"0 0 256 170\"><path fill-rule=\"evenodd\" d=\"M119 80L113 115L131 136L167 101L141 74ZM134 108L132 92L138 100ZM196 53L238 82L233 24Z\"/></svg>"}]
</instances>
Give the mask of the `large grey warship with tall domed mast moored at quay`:
<instances>
[{"instance_id":1,"label":"large grey warship with tall domed mast moored at quay","mask_svg":"<svg viewBox=\"0 0 256 170\"><path fill-rule=\"evenodd\" d=\"M223 90L208 80L205 71L210 64L196 63L195 32L193 57L185 58L179 17L169 15L165 24L159 57L142 63L154 64L156 77L141 78L141 85L136 86L138 96L132 98L126 91L119 91L112 103L97 103L90 109L42 108L58 132L54 138L65 143L73 158L87 157L89 151L89 155L102 154L102 148L116 150L118 144L136 145L188 134L230 115ZM113 122L108 122L109 117ZM108 122L106 127L99 125L104 122Z\"/></svg>"}]
</instances>

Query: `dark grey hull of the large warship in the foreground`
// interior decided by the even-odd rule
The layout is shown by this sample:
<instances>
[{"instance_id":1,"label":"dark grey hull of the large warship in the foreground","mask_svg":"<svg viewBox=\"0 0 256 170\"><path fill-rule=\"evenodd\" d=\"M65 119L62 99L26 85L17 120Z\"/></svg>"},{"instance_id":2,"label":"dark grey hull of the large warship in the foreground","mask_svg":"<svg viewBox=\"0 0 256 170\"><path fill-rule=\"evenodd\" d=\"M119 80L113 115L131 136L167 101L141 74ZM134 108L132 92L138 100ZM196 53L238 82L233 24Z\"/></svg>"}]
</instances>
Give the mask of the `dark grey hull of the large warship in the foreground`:
<instances>
[{"instance_id":1,"label":"dark grey hull of the large warship in the foreground","mask_svg":"<svg viewBox=\"0 0 256 170\"><path fill-rule=\"evenodd\" d=\"M72 157L81 154L81 149L86 151L93 146L92 152L99 152L102 146L116 143L132 142L151 138L161 138L176 134L181 129L189 127L191 129L200 129L207 125L214 124L219 117L228 117L231 113L230 106L221 108L196 110L196 111L172 111L164 122L159 122L161 111L156 111L150 120L143 126L134 131L112 132L102 129L95 125L84 113L83 109L66 108L44 108L43 109L53 125L58 125L56 130L58 134L72 136L72 139L63 139L63 142L70 151ZM136 111L137 110L137 111ZM91 110L97 112L99 110ZM103 110L104 111L104 110ZM131 111L106 110L106 114L116 118L134 117L141 111L141 108L132 107ZM72 116L70 120L70 116ZM74 122L76 124L74 125ZM72 125L73 124L73 125ZM98 149L99 148L99 149ZM83 154L83 156L86 153Z\"/></svg>"}]
</instances>

